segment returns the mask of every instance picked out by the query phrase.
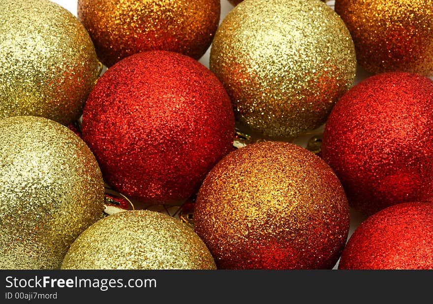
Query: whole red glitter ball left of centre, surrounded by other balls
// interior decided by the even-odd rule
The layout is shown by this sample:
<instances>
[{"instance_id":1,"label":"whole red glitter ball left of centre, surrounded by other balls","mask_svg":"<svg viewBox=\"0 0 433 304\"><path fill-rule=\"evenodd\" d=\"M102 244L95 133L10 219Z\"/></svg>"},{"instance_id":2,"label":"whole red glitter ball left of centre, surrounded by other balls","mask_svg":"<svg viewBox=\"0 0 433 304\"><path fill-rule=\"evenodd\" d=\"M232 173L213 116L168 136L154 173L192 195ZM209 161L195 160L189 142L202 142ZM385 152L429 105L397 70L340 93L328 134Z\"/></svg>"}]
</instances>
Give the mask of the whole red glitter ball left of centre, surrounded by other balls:
<instances>
[{"instance_id":1,"label":"whole red glitter ball left of centre, surrounded by other balls","mask_svg":"<svg viewBox=\"0 0 433 304\"><path fill-rule=\"evenodd\" d=\"M102 75L82 132L117 191L145 203L178 203L231 151L235 123L209 69L182 54L149 51Z\"/></svg>"}]
</instances>

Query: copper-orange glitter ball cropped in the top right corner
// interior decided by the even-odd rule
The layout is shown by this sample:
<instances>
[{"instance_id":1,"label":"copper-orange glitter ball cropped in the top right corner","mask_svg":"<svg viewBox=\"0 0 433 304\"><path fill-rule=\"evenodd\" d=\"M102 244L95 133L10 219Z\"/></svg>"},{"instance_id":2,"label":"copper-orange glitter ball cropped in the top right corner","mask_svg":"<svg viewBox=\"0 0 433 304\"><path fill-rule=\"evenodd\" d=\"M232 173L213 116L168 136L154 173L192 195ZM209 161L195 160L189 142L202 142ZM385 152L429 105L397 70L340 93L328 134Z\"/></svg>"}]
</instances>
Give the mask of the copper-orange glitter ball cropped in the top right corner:
<instances>
[{"instance_id":1,"label":"copper-orange glitter ball cropped in the top right corner","mask_svg":"<svg viewBox=\"0 0 433 304\"><path fill-rule=\"evenodd\" d=\"M336 0L335 11L366 70L433 75L433 0Z\"/></svg>"}]
</instances>

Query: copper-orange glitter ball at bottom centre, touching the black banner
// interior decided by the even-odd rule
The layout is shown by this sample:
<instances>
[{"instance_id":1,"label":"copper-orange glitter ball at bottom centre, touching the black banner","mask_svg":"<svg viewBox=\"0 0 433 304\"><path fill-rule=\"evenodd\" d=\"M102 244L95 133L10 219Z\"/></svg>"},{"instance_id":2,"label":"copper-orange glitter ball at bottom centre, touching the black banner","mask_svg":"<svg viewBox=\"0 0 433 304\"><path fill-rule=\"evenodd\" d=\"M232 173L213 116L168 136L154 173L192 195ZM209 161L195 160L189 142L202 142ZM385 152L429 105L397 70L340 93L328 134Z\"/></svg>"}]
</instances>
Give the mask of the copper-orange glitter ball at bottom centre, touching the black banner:
<instances>
[{"instance_id":1,"label":"copper-orange glitter ball at bottom centre, touching the black banner","mask_svg":"<svg viewBox=\"0 0 433 304\"><path fill-rule=\"evenodd\" d=\"M193 220L218 269L332 269L349 206L319 157L266 141L231 152L209 172Z\"/></svg>"}]
</instances>

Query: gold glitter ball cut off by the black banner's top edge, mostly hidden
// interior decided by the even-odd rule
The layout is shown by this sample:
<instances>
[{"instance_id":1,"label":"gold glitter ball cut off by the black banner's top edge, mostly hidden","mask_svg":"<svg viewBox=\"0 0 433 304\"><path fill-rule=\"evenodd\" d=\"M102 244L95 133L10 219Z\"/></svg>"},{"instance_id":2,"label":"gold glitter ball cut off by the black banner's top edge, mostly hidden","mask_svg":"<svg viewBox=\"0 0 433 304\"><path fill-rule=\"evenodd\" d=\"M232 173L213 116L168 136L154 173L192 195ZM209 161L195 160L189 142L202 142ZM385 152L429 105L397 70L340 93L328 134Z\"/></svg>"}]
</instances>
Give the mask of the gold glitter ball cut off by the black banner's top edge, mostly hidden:
<instances>
[{"instance_id":1,"label":"gold glitter ball cut off by the black banner's top edge, mostly hidden","mask_svg":"<svg viewBox=\"0 0 433 304\"><path fill-rule=\"evenodd\" d=\"M124 211L93 224L67 252L62 269L216 269L193 229L166 214Z\"/></svg>"}]
</instances>

